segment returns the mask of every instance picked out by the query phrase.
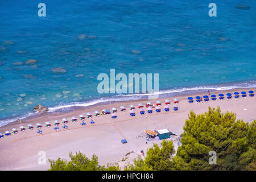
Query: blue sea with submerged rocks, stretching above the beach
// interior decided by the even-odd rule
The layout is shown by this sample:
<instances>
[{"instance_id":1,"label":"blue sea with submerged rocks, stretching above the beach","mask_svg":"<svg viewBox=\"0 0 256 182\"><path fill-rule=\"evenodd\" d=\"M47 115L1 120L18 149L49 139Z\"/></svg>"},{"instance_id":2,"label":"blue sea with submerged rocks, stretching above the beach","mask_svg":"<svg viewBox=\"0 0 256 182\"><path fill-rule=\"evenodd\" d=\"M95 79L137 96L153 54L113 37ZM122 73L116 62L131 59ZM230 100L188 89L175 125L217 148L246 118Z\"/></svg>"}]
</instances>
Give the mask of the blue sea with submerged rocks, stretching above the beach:
<instances>
[{"instance_id":1,"label":"blue sea with submerged rocks, stretching above the beach","mask_svg":"<svg viewBox=\"0 0 256 182\"><path fill-rule=\"evenodd\" d=\"M46 17L38 16L40 2L0 1L0 120L38 103L108 97L97 93L97 76L110 68L159 73L160 90L255 86L256 1L214 1L217 17L205 0L44 0ZM58 67L67 72L53 73Z\"/></svg>"}]
</instances>

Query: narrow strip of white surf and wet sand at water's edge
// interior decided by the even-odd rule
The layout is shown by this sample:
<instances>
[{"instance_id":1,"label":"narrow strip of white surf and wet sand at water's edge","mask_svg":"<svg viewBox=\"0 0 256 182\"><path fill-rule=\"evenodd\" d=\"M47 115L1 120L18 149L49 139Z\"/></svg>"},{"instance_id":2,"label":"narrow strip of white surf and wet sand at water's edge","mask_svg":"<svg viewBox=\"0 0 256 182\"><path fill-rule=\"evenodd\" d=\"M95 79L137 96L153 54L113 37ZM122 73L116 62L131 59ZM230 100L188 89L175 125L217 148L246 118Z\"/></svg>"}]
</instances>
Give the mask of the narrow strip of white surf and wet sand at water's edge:
<instances>
[{"instance_id":1,"label":"narrow strip of white surf and wet sand at water's edge","mask_svg":"<svg viewBox=\"0 0 256 182\"><path fill-rule=\"evenodd\" d=\"M233 88L233 89L227 89L227 90L210 90L209 89L209 92L210 94L216 94L216 93L224 93L224 96L226 97L226 93L228 92L232 92L232 95L233 95L233 92L241 92L241 91L245 91L245 92L248 92L249 90L254 90L256 92L256 87L252 87L252 88ZM156 100L165 100L165 99L169 99L169 98L173 98L173 97L177 97L177 98L182 98L184 100L183 97L185 97L185 99L187 99L188 96L191 96L191 97L195 97L196 94L202 94L204 93L205 95L208 95L208 90L204 90L204 89L199 89L199 90L193 90L193 92L187 92L187 90L185 91L181 91L181 92L174 92L176 94L174 94L174 96L171 96L171 97L159 97L158 99ZM179 93L179 94L178 94ZM85 114L85 112L87 111L84 111L84 110L91 110L93 108L95 108L95 110L98 110L98 111L101 111L102 109L108 109L108 108L105 108L104 106L108 107L117 107L117 109L119 110L119 106L123 104L133 104L134 102L136 102L137 104L139 102L143 102L143 101L151 101L153 104L154 104L154 101L156 100L147 100L146 98L140 98L138 100L126 100L126 101L103 101L103 102L98 102L96 104L93 104L93 105L89 105L89 106L77 106L77 105L74 105L74 106L70 106L70 107L65 107L67 105L64 105L64 109L67 109L67 110L63 110L63 108L61 109L56 109L55 111L47 111L45 113L32 113L31 115L29 115L28 117L24 118L24 119L21 119L23 123L29 123L31 120L34 120L34 119L40 119L40 118L44 118L44 117L56 117L56 115L61 115L61 114L69 114L69 113L73 113L73 112L77 112L77 111L81 111L81 114ZM172 102L172 100L170 99L170 101ZM80 102L79 102L80 103ZM82 102L81 102L82 103ZM119 104L119 106L111 106L111 105L116 105L116 104ZM78 104L79 105L79 104ZM135 105L135 107L137 107L137 105ZM51 107L49 107L51 108ZM101 108L101 109L100 109ZM126 106L127 108L127 106ZM90 113L94 113L94 111L90 111ZM110 110L110 108L109 108ZM0 126L0 131L2 131L2 129L6 128L6 127L12 127L12 126L15 126L17 125L17 120L19 118L22 118L23 115L21 115L20 117L15 117L15 121L13 122L10 122L10 123L7 123L6 125L3 125L3 126ZM9 118L10 119L10 118ZM6 119L8 120L8 119ZM2 121L5 121L5 120L2 120Z\"/></svg>"}]
</instances>

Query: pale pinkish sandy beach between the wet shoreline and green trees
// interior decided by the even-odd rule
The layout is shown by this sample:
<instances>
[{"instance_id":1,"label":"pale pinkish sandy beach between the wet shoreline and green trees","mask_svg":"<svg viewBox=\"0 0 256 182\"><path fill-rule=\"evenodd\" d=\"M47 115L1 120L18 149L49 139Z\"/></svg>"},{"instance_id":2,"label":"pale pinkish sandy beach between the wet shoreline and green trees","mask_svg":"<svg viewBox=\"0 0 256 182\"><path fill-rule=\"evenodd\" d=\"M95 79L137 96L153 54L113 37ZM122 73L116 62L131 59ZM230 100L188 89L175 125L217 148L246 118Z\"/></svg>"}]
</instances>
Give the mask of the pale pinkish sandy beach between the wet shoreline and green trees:
<instances>
[{"instance_id":1,"label":"pale pinkish sandy beach between the wet shoreline and green trees","mask_svg":"<svg viewBox=\"0 0 256 182\"><path fill-rule=\"evenodd\" d=\"M218 92L211 92L210 94L234 93L251 89L234 89ZM208 93L204 93L208 94ZM204 94L199 94L203 96ZM195 98L196 94L192 97ZM145 112L144 115L139 114L137 105L139 103L146 104L146 100L143 101L126 101L115 102L110 105L97 105L86 109L79 109L68 113L49 113L42 114L39 117L23 120L22 123L13 122L9 125L0 127L0 132L5 133L5 130L11 131L13 127L17 129L23 125L27 127L29 123L35 126L40 122L44 125L45 122L50 121L53 125L53 121L58 119L60 122L63 118L68 119L68 129L63 129L63 123L60 124L60 130L53 130L51 127L42 127L42 134L36 133L34 130L28 130L18 134L11 134L10 137L5 136L0 139L0 170L47 170L49 168L48 159L57 159L58 157L69 159L68 152L81 151L90 157L92 154L98 156L100 164L115 163L122 160L128 152L133 151L134 154L140 154L141 149L147 151L147 148L152 147L152 143L160 143L161 141L150 141L146 143L146 138L142 134L147 129L168 129L177 135L183 133L183 126L185 119L187 119L189 111L193 110L196 114L204 113L208 110L208 107L220 106L222 112L230 111L237 114L237 119L243 119L245 122L251 122L256 119L256 107L255 97L238 98L237 100L232 97L228 100L226 97L223 101L217 98L216 101L203 101L196 104L195 100L193 104L189 104L187 95L176 97L179 99L179 110L174 111L172 109L173 99L168 98L171 101L170 111L164 111L164 100L167 98L159 98L162 102L160 113L156 113L153 109L152 114ZM150 100L155 104L156 100ZM129 105L133 104L135 108L135 117L131 117L129 114ZM119 106L125 106L126 111L119 110ZM71 117L75 116L79 118L80 114L86 112L93 112L95 110L101 111L102 109L111 109L116 107L117 118L111 118L109 115L100 115L98 117L92 117L95 123L90 124L89 118L85 118L86 125L81 126L80 119L77 122L71 122ZM146 108L144 107L145 111ZM143 137L138 137L138 136ZM121 143L121 139L127 140L126 144ZM175 149L177 148L177 137L172 136L170 139L174 140ZM169 140L170 140L169 139ZM46 152L46 164L38 164L38 152Z\"/></svg>"}]
</instances>

